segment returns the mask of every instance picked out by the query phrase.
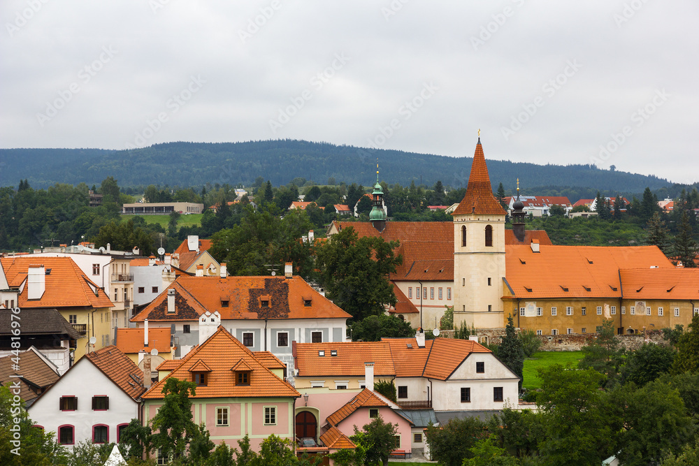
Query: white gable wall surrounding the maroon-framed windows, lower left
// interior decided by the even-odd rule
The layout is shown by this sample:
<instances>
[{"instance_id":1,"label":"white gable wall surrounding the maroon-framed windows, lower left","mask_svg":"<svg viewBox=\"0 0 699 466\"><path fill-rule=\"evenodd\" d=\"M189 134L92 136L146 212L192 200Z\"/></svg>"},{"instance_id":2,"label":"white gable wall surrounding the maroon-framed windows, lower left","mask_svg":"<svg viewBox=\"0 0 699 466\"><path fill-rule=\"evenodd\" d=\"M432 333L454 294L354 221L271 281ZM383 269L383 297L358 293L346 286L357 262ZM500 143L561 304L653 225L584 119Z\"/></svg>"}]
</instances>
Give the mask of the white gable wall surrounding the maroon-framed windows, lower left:
<instances>
[{"instance_id":1,"label":"white gable wall surrounding the maroon-framed windows, lower left","mask_svg":"<svg viewBox=\"0 0 699 466\"><path fill-rule=\"evenodd\" d=\"M92 396L109 397L109 409L92 410ZM78 409L61 411L59 402L62 396L78 397ZM75 444L82 440L92 441L92 426L108 425L108 442L117 441L117 425L128 424L138 418L138 403L113 381L108 379L89 360L79 361L56 384L39 397L28 409L35 424L45 432L57 432L61 425L73 425ZM66 445L72 448L72 445Z\"/></svg>"}]
</instances>

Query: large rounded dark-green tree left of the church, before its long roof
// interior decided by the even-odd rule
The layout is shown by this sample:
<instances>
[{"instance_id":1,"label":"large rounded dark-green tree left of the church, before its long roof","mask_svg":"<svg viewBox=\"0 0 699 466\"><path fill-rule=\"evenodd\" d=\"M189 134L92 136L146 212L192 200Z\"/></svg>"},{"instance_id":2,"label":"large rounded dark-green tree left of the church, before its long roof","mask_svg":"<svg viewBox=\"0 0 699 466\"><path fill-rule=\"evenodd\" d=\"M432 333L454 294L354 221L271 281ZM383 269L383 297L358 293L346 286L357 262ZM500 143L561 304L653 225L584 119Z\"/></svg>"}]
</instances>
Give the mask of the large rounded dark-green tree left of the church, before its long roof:
<instances>
[{"instance_id":1,"label":"large rounded dark-green tree left of the church, before its long roof","mask_svg":"<svg viewBox=\"0 0 699 466\"><path fill-rule=\"evenodd\" d=\"M384 312L396 304L389 273L403 261L394 256L398 242L383 238L359 238L354 228L343 228L317 248L321 281L335 303L355 320Z\"/></svg>"}]
</instances>

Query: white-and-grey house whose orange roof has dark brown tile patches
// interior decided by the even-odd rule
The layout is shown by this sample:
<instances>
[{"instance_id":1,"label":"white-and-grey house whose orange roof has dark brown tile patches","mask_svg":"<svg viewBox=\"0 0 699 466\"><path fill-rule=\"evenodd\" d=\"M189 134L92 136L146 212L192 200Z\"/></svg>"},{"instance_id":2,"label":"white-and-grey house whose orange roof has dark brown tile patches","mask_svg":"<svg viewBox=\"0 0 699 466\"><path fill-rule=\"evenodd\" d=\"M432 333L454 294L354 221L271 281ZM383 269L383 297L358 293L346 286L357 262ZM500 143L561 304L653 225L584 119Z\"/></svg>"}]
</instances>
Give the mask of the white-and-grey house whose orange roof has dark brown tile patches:
<instances>
[{"instance_id":1,"label":"white-and-grey house whose orange roof has dark brown tile patches","mask_svg":"<svg viewBox=\"0 0 699 466\"><path fill-rule=\"evenodd\" d=\"M283 277L190 277L182 275L132 322L138 328L170 328L175 358L201 342L201 316L212 317L251 351L271 351L289 367L292 342L342 342L350 315L319 294L291 263Z\"/></svg>"}]
</instances>

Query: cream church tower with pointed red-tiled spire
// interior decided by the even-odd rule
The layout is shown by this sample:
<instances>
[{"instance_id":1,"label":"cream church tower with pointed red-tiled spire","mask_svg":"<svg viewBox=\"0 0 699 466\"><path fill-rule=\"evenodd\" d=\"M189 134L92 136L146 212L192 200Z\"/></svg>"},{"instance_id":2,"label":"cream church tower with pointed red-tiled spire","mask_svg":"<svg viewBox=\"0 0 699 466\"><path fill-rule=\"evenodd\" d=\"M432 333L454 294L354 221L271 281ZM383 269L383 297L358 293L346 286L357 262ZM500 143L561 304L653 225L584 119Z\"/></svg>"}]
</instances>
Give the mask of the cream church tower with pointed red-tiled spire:
<instances>
[{"instance_id":1,"label":"cream church tower with pointed red-tiled spire","mask_svg":"<svg viewBox=\"0 0 699 466\"><path fill-rule=\"evenodd\" d=\"M480 133L480 131L479 131ZM505 215L493 196L480 134L468 187L454 217L454 328L501 328Z\"/></svg>"}]
</instances>

